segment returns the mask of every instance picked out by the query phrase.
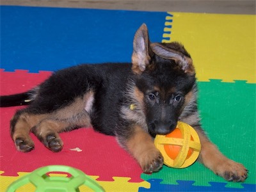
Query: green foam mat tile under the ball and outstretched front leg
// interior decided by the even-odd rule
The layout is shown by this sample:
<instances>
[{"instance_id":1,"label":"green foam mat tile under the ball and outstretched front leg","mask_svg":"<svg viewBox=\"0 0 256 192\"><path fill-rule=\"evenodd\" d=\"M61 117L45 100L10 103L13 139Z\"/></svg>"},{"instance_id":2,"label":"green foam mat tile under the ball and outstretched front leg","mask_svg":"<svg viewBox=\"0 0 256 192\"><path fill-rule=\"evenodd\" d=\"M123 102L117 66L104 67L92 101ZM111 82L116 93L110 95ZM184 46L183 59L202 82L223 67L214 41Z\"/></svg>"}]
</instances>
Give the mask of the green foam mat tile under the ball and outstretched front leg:
<instances>
[{"instance_id":1,"label":"green foam mat tile under the ball and outstretched front leg","mask_svg":"<svg viewBox=\"0 0 256 192\"><path fill-rule=\"evenodd\" d=\"M225 156L243 163L250 171L245 183L256 184L256 84L211 80L198 82L198 89L198 104L205 132ZM141 177L145 180L163 179L163 184L177 184L176 180L195 180L194 185L198 186L225 182L198 162L184 169L164 166L160 172L142 174ZM240 183L234 182L228 182L227 187L242 188Z\"/></svg>"}]
</instances>

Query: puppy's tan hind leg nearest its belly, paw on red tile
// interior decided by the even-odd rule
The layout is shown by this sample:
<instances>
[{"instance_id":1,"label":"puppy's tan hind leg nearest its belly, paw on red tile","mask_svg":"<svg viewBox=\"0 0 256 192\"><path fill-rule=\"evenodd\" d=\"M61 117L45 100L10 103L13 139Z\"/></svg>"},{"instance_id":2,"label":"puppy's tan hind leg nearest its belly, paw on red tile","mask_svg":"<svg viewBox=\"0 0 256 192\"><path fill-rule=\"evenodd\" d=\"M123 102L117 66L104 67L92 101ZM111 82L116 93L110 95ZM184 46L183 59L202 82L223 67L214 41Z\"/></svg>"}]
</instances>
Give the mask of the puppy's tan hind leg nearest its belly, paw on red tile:
<instances>
[{"instance_id":1,"label":"puppy's tan hind leg nearest its belly, paw on red tile","mask_svg":"<svg viewBox=\"0 0 256 192\"><path fill-rule=\"evenodd\" d=\"M33 127L33 133L49 150L60 152L63 148L60 132L92 126L89 113L92 111L93 100L92 91L88 91L83 97L77 97L74 102L50 113L48 118Z\"/></svg>"}]
</instances>

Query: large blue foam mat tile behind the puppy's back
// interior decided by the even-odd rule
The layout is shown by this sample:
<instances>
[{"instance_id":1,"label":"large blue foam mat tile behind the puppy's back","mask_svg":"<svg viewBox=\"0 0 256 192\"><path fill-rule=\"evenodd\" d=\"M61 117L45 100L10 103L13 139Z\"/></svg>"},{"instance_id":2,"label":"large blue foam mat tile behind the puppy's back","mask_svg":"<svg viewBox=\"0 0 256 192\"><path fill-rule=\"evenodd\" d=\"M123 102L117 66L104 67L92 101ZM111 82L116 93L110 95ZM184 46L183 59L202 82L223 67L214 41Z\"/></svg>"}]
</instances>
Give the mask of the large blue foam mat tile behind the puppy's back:
<instances>
[{"instance_id":1,"label":"large blue foam mat tile behind the puppy's back","mask_svg":"<svg viewBox=\"0 0 256 192\"><path fill-rule=\"evenodd\" d=\"M1 6L1 58L15 68L58 70L81 63L131 62L132 41L145 23L161 42L166 12Z\"/></svg>"}]
</instances>

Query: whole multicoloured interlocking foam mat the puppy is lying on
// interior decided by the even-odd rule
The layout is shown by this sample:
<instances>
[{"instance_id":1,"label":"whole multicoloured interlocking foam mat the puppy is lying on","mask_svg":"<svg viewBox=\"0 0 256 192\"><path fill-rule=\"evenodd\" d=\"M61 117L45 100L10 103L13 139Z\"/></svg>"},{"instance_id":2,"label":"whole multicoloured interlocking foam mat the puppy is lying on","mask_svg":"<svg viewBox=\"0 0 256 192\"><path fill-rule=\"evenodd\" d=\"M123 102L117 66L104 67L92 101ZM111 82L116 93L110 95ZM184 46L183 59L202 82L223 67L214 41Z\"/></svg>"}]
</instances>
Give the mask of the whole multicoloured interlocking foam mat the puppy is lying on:
<instances>
[{"instance_id":1,"label":"whole multicoloured interlocking foam mat the puppy is lying on","mask_svg":"<svg viewBox=\"0 0 256 192\"><path fill-rule=\"evenodd\" d=\"M35 136L35 150L17 152L1 108L0 191L50 164L79 168L106 191L255 191L255 15L133 12L1 6L1 95L29 90L60 68L79 63L129 62L136 29L145 22L152 42L179 41L191 54L198 78L202 125L226 156L250 171L243 183L226 182L202 164L166 166L147 175L112 136L92 128L61 133L52 153ZM72 150L80 148L81 151ZM34 191L26 185L19 191ZM85 191L86 188L81 188Z\"/></svg>"}]
</instances>

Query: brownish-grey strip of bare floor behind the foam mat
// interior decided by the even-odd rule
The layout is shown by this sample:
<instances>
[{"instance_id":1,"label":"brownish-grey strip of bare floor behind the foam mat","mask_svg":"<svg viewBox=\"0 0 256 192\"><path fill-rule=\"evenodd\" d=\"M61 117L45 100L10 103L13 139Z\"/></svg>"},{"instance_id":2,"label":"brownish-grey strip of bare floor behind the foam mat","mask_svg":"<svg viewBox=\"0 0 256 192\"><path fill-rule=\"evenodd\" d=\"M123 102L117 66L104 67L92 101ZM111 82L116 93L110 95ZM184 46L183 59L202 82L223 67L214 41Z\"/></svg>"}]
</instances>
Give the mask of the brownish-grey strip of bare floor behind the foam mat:
<instances>
[{"instance_id":1,"label":"brownish-grey strip of bare floor behind the foam mat","mask_svg":"<svg viewBox=\"0 0 256 192\"><path fill-rule=\"evenodd\" d=\"M255 0L1 0L2 5L255 14Z\"/></svg>"}]
</instances>

